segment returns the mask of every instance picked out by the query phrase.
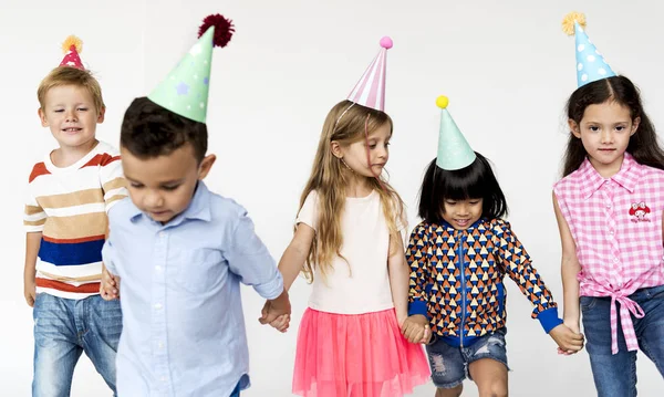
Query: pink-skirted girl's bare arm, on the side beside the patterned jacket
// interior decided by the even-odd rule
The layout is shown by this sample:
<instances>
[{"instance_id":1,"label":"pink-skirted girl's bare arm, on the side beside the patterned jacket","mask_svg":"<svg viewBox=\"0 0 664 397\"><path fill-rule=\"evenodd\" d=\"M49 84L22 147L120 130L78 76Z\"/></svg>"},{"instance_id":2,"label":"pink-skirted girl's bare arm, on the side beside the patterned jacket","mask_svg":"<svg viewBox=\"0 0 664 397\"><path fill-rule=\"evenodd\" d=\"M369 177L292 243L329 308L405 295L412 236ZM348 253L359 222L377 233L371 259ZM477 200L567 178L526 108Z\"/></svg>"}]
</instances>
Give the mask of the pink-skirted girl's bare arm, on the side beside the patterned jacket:
<instances>
[{"instance_id":1,"label":"pink-skirted girl's bare arm, on the side beside the patterned jacket","mask_svg":"<svg viewBox=\"0 0 664 397\"><path fill-rule=\"evenodd\" d=\"M411 280L411 268L406 263L402 241L401 233L397 237L390 237L390 258L387 258L392 302L394 302L400 327L408 316L408 283Z\"/></svg>"}]
</instances>

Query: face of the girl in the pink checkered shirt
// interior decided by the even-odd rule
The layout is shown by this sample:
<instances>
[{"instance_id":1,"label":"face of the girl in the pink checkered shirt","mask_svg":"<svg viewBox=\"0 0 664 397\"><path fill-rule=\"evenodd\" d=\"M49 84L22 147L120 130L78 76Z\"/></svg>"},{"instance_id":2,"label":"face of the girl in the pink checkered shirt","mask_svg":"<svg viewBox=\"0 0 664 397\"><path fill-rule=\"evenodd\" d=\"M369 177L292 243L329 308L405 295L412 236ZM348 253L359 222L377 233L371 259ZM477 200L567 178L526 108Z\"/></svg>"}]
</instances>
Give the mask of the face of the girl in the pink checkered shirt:
<instances>
[{"instance_id":1,"label":"face of the girl in the pink checkered shirt","mask_svg":"<svg viewBox=\"0 0 664 397\"><path fill-rule=\"evenodd\" d=\"M618 171L640 121L632 121L629 107L606 101L588 106L581 123L570 119L569 125L572 134L583 143L595 169Z\"/></svg>"}]
</instances>

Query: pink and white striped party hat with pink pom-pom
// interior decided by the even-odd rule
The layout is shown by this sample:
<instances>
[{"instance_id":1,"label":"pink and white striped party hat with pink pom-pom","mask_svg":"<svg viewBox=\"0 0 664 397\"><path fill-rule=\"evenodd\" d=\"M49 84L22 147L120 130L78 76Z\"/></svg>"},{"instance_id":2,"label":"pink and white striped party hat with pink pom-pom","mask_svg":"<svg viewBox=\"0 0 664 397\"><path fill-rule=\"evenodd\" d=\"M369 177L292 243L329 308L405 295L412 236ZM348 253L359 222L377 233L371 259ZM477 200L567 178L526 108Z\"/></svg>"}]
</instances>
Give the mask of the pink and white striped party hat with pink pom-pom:
<instances>
[{"instance_id":1,"label":"pink and white striped party hat with pink pom-pom","mask_svg":"<svg viewBox=\"0 0 664 397\"><path fill-rule=\"evenodd\" d=\"M392 39L381 39L381 51L369 65L347 100L359 105L384 112L385 109L385 66L387 50L393 45Z\"/></svg>"}]
</instances>

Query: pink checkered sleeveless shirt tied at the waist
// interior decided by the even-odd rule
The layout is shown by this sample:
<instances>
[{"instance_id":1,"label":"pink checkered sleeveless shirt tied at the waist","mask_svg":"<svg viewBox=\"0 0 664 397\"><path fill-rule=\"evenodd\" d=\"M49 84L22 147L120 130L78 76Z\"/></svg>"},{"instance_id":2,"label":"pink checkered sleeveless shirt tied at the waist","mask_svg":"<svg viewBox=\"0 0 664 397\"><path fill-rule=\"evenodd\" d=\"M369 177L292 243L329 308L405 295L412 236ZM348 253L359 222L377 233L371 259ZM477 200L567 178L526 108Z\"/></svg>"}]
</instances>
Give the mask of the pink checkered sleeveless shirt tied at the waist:
<instances>
[{"instance_id":1,"label":"pink checkered sleeveless shirt tied at the waist","mask_svg":"<svg viewBox=\"0 0 664 397\"><path fill-rule=\"evenodd\" d=\"M664 284L662 211L664 171L643 166L625 153L622 167L605 179L588 159L553 186L581 264L579 293L611 296L611 351L618 353L618 310L629 351L639 343L632 323L643 317L629 296Z\"/></svg>"}]
</instances>

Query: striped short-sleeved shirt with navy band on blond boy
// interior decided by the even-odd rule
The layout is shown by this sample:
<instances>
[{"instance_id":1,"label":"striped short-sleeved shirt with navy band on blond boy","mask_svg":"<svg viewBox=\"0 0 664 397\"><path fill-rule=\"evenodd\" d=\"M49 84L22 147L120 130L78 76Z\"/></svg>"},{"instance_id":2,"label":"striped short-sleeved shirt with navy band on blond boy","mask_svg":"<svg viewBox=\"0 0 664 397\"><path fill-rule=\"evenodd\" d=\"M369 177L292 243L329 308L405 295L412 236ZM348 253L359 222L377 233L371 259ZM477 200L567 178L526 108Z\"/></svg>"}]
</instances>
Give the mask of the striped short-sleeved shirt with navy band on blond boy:
<instances>
[{"instance_id":1,"label":"striped short-sleeved shirt with navy band on blond boy","mask_svg":"<svg viewBox=\"0 0 664 397\"><path fill-rule=\"evenodd\" d=\"M83 299L97 294L108 209L127 195L120 153L100 142L75 164L51 156L30 174L23 224L41 232L37 293Z\"/></svg>"}]
</instances>

